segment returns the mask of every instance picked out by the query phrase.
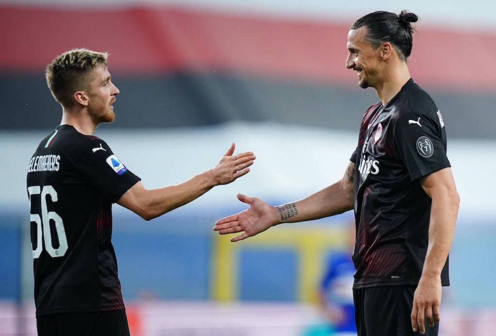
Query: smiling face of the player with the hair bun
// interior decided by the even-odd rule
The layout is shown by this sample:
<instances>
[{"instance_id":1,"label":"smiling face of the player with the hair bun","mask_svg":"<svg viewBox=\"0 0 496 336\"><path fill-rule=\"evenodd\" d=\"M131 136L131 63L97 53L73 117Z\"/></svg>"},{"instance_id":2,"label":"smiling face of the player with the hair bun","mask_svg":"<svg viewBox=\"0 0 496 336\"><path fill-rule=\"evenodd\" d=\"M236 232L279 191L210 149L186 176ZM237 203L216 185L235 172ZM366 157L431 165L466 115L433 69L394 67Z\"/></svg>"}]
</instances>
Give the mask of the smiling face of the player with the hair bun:
<instances>
[{"instance_id":1,"label":"smiling face of the player with the hair bun","mask_svg":"<svg viewBox=\"0 0 496 336\"><path fill-rule=\"evenodd\" d=\"M381 48L373 49L367 39L367 27L351 29L348 32L348 58L346 67L358 71L358 85L362 88L375 87L380 80L383 66Z\"/></svg>"}]
</instances>

